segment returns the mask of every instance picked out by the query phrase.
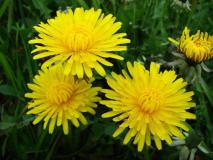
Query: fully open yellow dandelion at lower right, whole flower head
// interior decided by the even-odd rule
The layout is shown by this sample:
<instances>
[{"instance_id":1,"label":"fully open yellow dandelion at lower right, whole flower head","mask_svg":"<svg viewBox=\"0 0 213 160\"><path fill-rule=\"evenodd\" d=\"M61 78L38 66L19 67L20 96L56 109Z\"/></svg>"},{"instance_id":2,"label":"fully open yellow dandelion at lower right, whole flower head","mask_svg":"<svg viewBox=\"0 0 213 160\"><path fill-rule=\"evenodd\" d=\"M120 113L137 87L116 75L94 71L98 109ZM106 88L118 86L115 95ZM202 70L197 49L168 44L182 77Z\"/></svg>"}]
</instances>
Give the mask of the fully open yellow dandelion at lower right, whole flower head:
<instances>
[{"instance_id":1,"label":"fully open yellow dandelion at lower right, whole flower head","mask_svg":"<svg viewBox=\"0 0 213 160\"><path fill-rule=\"evenodd\" d=\"M184 121L195 119L186 111L195 106L190 102L193 92L186 92L187 83L177 79L174 71L159 72L159 64L151 63L148 71L140 62L127 62L127 68L130 75L125 70L123 75L112 72L112 77L106 78L111 89L103 89L109 99L101 104L111 111L102 117L114 117L113 121L120 123L113 137L128 130L123 143L133 138L138 151L144 144L150 146L151 138L158 149L162 148L161 140L171 144L172 136L183 139L180 129L188 131Z\"/></svg>"}]
</instances>

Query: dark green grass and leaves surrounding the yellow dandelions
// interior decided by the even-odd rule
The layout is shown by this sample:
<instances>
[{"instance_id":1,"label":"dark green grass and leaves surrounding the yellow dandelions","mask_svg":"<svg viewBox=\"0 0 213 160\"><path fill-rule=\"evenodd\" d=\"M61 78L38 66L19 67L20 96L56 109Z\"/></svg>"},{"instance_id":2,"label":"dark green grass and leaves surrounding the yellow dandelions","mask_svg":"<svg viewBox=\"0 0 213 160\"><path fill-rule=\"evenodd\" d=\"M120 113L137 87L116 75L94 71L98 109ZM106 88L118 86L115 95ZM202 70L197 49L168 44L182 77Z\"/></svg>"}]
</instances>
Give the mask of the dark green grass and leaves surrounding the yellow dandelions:
<instances>
[{"instance_id":1,"label":"dark green grass and leaves surrounding the yellow dandelions","mask_svg":"<svg viewBox=\"0 0 213 160\"><path fill-rule=\"evenodd\" d=\"M122 136L113 139L116 128L109 119L101 119L106 108L99 106L96 117L78 129L71 127L68 136L61 128L49 135L42 125L33 126L34 117L25 115L26 84L37 73L40 61L32 60L32 45L28 40L36 35L33 26L55 16L56 10L67 6L102 8L123 23L122 31L131 39L125 61L171 61L171 44L167 38L179 37L185 26L193 33L198 29L213 34L213 1L190 0L191 10L172 5L174 0L0 0L0 159L71 159L71 160L128 160L182 159L196 151L196 159L213 159L213 73L202 73L202 81L189 86L194 90L197 120L191 125L185 142L177 146L163 145L145 148L138 153L134 145L122 145ZM185 0L182 0L183 2ZM125 68L125 62L112 61L114 70ZM213 68L213 60L206 64ZM165 68L169 69L164 65ZM175 68L178 71L178 68ZM178 73L180 76L184 76ZM106 86L102 77L95 85ZM192 159L193 154L191 157Z\"/></svg>"}]
</instances>

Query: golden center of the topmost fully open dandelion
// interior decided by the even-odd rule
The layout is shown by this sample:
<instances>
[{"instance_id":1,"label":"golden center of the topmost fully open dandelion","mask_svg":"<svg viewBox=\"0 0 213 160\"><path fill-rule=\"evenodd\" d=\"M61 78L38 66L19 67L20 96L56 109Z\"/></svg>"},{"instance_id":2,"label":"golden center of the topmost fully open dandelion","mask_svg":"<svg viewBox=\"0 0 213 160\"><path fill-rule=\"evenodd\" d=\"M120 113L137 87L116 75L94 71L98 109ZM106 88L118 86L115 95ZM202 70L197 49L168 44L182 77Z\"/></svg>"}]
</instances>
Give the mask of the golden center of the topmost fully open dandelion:
<instances>
[{"instance_id":1,"label":"golden center of the topmost fully open dandelion","mask_svg":"<svg viewBox=\"0 0 213 160\"><path fill-rule=\"evenodd\" d=\"M84 52L93 45L92 32L84 26L73 27L65 35L67 52Z\"/></svg>"}]
</instances>

